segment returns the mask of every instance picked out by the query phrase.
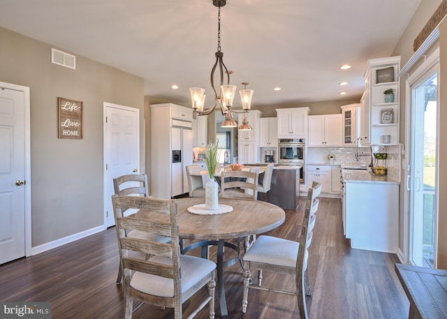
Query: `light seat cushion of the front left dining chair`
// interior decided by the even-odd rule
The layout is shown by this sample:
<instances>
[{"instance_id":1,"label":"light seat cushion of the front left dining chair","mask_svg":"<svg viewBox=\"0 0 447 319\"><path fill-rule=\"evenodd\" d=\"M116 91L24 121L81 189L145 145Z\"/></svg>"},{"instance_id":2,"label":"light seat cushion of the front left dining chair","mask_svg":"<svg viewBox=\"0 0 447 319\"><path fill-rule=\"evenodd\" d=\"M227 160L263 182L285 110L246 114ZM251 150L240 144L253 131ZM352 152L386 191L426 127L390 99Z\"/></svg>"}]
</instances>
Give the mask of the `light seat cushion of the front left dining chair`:
<instances>
[{"instance_id":1,"label":"light seat cushion of the front left dining chair","mask_svg":"<svg viewBox=\"0 0 447 319\"><path fill-rule=\"evenodd\" d=\"M172 263L171 258L161 256L154 256L151 261L159 262L164 265L171 265ZM182 274L182 278L180 279L182 285L181 292L184 292L216 269L216 264L205 258L181 255L180 267ZM150 295L174 297L173 279L154 276L143 272L135 272L131 279L131 286Z\"/></svg>"}]
</instances>

